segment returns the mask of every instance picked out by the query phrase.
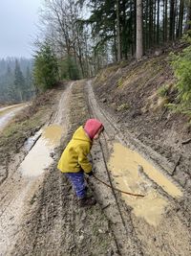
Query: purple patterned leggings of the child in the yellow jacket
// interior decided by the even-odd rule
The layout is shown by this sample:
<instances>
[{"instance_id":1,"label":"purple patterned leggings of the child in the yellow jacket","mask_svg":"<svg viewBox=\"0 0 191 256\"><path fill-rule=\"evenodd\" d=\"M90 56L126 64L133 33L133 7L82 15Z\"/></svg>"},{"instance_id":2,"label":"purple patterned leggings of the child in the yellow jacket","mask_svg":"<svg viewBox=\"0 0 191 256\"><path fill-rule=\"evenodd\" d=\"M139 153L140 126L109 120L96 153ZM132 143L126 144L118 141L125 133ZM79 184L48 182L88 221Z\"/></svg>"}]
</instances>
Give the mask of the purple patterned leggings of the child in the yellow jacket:
<instances>
[{"instance_id":1,"label":"purple patterned leggings of the child in the yellow jacket","mask_svg":"<svg viewBox=\"0 0 191 256\"><path fill-rule=\"evenodd\" d=\"M86 196L86 184L84 181L83 171L79 173L67 173L65 174L71 181L77 198L85 198Z\"/></svg>"}]
</instances>

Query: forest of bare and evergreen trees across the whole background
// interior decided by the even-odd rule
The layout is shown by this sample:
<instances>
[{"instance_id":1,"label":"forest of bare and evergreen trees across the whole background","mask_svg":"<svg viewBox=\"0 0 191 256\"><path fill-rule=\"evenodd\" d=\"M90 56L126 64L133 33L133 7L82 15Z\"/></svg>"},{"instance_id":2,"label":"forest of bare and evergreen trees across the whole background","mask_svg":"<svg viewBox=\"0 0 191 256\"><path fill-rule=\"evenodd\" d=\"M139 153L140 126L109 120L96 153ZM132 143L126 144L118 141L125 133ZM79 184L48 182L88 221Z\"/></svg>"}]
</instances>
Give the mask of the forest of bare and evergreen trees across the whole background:
<instances>
[{"instance_id":1,"label":"forest of bare and evergreen trees across the whole background","mask_svg":"<svg viewBox=\"0 0 191 256\"><path fill-rule=\"evenodd\" d=\"M190 0L46 0L33 58L0 60L0 101L26 101L34 87L169 51L189 33L190 19Z\"/></svg>"}]
</instances>

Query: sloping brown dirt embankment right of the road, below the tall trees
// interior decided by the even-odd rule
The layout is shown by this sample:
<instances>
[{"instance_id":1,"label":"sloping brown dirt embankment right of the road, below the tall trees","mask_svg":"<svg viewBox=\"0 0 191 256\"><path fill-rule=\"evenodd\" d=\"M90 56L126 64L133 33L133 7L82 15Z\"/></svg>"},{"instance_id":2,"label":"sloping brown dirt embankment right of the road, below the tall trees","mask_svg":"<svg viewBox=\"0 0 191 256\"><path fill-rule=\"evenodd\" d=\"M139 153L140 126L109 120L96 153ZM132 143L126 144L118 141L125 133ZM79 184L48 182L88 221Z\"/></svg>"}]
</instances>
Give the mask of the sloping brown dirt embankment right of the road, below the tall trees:
<instances>
[{"instance_id":1,"label":"sloping brown dirt embankment right of the road, below the tall trees","mask_svg":"<svg viewBox=\"0 0 191 256\"><path fill-rule=\"evenodd\" d=\"M164 156L169 162L166 172L189 194L190 120L165 106L175 100L173 90L164 97L159 93L161 88L171 88L174 82L165 54L123 67L106 68L93 84L99 105L115 117L121 129L128 130L133 137Z\"/></svg>"}]
</instances>

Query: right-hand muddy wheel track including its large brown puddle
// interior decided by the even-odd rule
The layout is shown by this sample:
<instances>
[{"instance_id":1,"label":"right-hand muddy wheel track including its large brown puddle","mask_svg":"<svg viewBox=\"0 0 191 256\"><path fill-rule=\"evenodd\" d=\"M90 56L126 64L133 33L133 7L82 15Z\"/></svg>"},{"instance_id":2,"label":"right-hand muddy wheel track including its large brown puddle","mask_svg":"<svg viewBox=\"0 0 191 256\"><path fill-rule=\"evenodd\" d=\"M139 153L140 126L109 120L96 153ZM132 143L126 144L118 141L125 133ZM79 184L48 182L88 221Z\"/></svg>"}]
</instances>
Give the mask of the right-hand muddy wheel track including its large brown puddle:
<instances>
[{"instance_id":1,"label":"right-hand muddy wheel track including its large brown puddle","mask_svg":"<svg viewBox=\"0 0 191 256\"><path fill-rule=\"evenodd\" d=\"M111 179L113 185L123 191L145 195L145 198L131 198L117 192L115 204L119 205L122 215L118 229L123 227L123 232L125 230L127 233L127 237L123 237L125 242L122 243L121 254L133 253L133 248L130 247L136 243L135 255L189 255L189 210L180 207L182 200L186 201L187 198L183 187L162 169L165 167L162 156L134 139L127 129L123 131L120 123L97 104L90 82L87 83L87 90L91 115L101 120L105 126L101 143L96 145L93 152L97 177L107 183ZM107 159L109 174L105 164L101 165L104 158ZM110 179L107 177L109 175ZM111 189L108 191L106 186L97 185L96 180L94 185L97 197L104 207L107 205L105 211L109 218L116 222L119 212L116 215L113 210L114 202L111 202L109 196ZM119 241L120 235L117 236Z\"/></svg>"}]
</instances>

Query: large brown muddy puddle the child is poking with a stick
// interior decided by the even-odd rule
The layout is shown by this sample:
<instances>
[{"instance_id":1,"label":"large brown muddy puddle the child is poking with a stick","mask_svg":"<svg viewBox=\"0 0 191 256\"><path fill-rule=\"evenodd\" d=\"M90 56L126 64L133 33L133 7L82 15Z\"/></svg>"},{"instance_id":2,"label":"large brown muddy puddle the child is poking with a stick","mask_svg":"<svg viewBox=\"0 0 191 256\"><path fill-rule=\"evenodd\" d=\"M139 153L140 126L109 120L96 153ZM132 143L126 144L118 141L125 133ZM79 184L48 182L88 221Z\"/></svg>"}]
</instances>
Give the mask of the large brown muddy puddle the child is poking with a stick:
<instances>
[{"instance_id":1,"label":"large brown muddy puddle the child is poking with a stick","mask_svg":"<svg viewBox=\"0 0 191 256\"><path fill-rule=\"evenodd\" d=\"M180 189L137 151L125 148L119 143L113 145L113 153L108 165L118 189L145 195L144 198L136 198L121 194L125 202L133 207L134 214L149 224L159 225L162 214L169 204L169 201L153 187L153 182L149 178L154 180L171 197L180 198L182 196ZM138 172L139 166L141 166L143 174ZM149 178L146 178L146 175Z\"/></svg>"}]
</instances>

